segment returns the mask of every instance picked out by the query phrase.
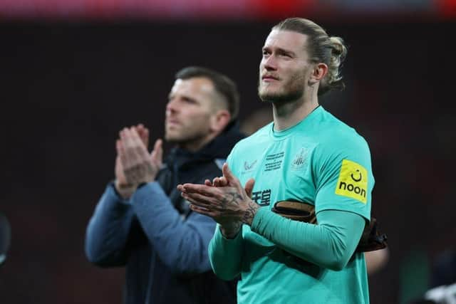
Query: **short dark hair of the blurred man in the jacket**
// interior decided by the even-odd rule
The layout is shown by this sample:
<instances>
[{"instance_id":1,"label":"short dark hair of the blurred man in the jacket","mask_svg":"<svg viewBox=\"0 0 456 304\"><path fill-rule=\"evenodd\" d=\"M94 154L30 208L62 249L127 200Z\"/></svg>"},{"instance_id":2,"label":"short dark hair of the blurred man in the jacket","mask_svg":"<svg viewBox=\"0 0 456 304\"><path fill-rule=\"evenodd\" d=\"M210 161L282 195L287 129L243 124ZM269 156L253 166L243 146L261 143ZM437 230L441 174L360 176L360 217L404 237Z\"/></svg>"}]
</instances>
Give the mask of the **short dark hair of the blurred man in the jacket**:
<instances>
[{"instance_id":1,"label":"short dark hair of the blurred man in the jacket","mask_svg":"<svg viewBox=\"0 0 456 304\"><path fill-rule=\"evenodd\" d=\"M222 73L201 66L188 66L187 68L182 68L182 70L179 70L175 75L176 80L187 80L198 77L208 78L212 81L214 89L217 93L222 95L227 103L231 121L236 120L237 115L239 114L239 92L236 83Z\"/></svg>"}]
</instances>

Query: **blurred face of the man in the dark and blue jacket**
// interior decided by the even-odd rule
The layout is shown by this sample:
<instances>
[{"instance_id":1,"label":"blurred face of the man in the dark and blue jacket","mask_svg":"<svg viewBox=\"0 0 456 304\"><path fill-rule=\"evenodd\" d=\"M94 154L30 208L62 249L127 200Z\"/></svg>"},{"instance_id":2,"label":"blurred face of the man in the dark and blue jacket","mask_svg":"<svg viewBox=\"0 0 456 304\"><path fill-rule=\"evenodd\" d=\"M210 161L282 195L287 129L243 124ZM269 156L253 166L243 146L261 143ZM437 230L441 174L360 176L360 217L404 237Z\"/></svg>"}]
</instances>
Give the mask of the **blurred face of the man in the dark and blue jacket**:
<instances>
[{"instance_id":1,"label":"blurred face of the man in the dark and blue jacket","mask_svg":"<svg viewBox=\"0 0 456 304\"><path fill-rule=\"evenodd\" d=\"M207 78L177 79L166 106L165 140L184 146L204 141L212 132L214 95Z\"/></svg>"}]
</instances>

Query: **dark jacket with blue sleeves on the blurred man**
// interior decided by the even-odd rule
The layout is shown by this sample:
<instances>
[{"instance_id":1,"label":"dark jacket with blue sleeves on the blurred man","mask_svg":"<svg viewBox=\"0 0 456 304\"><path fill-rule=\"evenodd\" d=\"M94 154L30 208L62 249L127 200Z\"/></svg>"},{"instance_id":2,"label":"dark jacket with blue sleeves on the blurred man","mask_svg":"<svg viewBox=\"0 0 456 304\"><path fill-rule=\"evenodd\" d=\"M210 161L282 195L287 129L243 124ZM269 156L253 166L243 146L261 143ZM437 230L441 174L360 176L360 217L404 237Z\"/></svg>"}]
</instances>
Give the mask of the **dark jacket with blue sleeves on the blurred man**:
<instances>
[{"instance_id":1,"label":"dark jacket with blue sleeves on the blurred man","mask_svg":"<svg viewBox=\"0 0 456 304\"><path fill-rule=\"evenodd\" d=\"M126 266L125 303L235 303L233 283L220 281L207 246L215 222L192 212L177 184L203 183L242 139L237 125L196 153L174 149L157 181L124 201L109 184L86 233L86 255L101 267Z\"/></svg>"}]
</instances>

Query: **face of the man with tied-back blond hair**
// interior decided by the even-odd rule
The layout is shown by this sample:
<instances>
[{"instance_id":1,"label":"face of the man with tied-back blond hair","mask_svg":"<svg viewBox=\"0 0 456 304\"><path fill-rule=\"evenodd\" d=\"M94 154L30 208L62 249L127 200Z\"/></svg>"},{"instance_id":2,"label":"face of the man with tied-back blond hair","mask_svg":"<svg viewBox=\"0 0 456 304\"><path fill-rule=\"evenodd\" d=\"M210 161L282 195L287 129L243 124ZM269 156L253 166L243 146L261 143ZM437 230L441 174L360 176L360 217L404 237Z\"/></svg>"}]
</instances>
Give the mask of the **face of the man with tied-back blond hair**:
<instances>
[{"instance_id":1,"label":"face of the man with tied-back blond hair","mask_svg":"<svg viewBox=\"0 0 456 304\"><path fill-rule=\"evenodd\" d=\"M312 71L306 40L306 35L294 31L274 29L269 33L259 65L261 100L274 103L301 98Z\"/></svg>"}]
</instances>

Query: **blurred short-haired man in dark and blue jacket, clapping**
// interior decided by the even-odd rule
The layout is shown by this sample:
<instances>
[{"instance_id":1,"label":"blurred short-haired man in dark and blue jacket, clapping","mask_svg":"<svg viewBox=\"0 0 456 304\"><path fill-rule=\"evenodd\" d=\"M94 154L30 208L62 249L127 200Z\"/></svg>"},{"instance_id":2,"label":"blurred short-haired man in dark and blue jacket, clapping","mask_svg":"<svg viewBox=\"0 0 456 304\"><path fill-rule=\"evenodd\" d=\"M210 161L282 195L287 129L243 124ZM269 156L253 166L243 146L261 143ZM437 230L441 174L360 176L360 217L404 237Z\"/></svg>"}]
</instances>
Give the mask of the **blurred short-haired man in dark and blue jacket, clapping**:
<instances>
[{"instance_id":1,"label":"blurred short-haired man in dark and blue jacket, clapping","mask_svg":"<svg viewBox=\"0 0 456 304\"><path fill-rule=\"evenodd\" d=\"M161 140L147 151L147 128L120 131L115 182L88 224L86 255L101 267L126 266L125 303L235 302L233 285L217 279L209 265L215 222L192 212L176 186L221 174L243 137L238 111L232 80L189 67L176 74L169 95L165 140L176 147L164 162Z\"/></svg>"}]
</instances>

